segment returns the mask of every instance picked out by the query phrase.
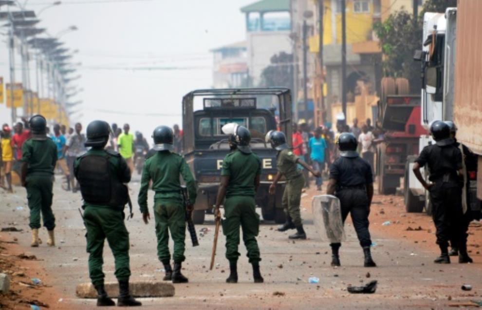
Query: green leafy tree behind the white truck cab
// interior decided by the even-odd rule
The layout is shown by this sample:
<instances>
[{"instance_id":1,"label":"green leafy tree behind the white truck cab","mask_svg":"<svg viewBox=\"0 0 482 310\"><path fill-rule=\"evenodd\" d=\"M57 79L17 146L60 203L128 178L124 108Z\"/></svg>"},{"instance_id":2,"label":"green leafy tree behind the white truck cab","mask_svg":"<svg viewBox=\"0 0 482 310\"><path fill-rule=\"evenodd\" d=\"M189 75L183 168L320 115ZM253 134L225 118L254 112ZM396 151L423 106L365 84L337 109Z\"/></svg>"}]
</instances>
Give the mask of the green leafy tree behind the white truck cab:
<instances>
[{"instance_id":1,"label":"green leafy tree behind the white truck cab","mask_svg":"<svg viewBox=\"0 0 482 310\"><path fill-rule=\"evenodd\" d=\"M407 11L396 11L384 22L373 25L380 40L383 74L386 77L406 77L410 91L420 92L420 63L413 61L415 50L422 48L423 16L425 12L443 13L447 7L456 7L457 0L427 0L419 18Z\"/></svg>"}]
</instances>

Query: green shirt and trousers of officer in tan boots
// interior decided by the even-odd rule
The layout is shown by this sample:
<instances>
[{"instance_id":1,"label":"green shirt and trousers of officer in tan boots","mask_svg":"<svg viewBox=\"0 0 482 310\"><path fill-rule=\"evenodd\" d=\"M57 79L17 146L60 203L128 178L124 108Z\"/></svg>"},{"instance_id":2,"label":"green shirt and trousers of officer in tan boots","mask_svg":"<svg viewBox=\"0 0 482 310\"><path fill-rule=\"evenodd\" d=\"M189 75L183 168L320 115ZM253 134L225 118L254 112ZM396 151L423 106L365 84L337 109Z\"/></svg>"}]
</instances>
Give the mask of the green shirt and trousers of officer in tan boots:
<instances>
[{"instance_id":1,"label":"green shirt and trousers of officer in tan boots","mask_svg":"<svg viewBox=\"0 0 482 310\"><path fill-rule=\"evenodd\" d=\"M50 138L28 139L22 146L21 161L28 164L26 189L30 209L30 228L40 228L40 213L43 226L49 231L55 228L52 212L52 187L54 168L57 162L57 146Z\"/></svg>"}]
</instances>

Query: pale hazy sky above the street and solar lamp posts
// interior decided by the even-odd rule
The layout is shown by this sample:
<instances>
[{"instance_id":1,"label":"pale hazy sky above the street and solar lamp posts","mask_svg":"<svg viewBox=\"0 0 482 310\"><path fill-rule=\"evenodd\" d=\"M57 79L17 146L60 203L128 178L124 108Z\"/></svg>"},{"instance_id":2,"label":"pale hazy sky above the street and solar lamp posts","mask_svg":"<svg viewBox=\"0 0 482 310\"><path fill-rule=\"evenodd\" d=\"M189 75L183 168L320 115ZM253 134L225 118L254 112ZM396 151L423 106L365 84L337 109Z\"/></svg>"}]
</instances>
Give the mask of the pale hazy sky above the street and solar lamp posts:
<instances>
[{"instance_id":1,"label":"pale hazy sky above the street and solar lamp posts","mask_svg":"<svg viewBox=\"0 0 482 310\"><path fill-rule=\"evenodd\" d=\"M66 48L79 50L72 62L82 62L82 77L72 83L84 92L71 101L84 101L74 108L83 116L74 114L72 125L81 121L85 128L93 119L129 122L132 131L150 137L158 125L181 124L182 96L212 85L209 50L245 38L240 8L255 1L63 0L42 12L38 27L51 36L78 27L61 36ZM39 11L52 2L29 0L27 9ZM0 76L9 82L5 39L1 36ZM19 61L16 55L17 67ZM0 104L0 122L10 119Z\"/></svg>"}]
</instances>

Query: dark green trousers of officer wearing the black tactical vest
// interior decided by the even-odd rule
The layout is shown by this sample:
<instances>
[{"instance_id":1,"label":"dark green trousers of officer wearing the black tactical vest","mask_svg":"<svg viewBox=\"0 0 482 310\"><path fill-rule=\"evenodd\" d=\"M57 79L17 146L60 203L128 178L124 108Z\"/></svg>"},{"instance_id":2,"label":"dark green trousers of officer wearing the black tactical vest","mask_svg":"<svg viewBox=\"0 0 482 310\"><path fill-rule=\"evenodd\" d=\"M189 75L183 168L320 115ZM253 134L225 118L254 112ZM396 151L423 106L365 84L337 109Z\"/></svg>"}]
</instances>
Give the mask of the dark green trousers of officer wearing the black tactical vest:
<instances>
[{"instance_id":1,"label":"dark green trousers of officer wearing the black tactical vest","mask_svg":"<svg viewBox=\"0 0 482 310\"><path fill-rule=\"evenodd\" d=\"M129 268L129 232L124 224L124 213L110 207L87 206L84 212L84 225L87 229L87 252L89 255L89 276L92 284L104 284L103 250L107 238L114 255L115 272L118 281L127 281Z\"/></svg>"}]
</instances>

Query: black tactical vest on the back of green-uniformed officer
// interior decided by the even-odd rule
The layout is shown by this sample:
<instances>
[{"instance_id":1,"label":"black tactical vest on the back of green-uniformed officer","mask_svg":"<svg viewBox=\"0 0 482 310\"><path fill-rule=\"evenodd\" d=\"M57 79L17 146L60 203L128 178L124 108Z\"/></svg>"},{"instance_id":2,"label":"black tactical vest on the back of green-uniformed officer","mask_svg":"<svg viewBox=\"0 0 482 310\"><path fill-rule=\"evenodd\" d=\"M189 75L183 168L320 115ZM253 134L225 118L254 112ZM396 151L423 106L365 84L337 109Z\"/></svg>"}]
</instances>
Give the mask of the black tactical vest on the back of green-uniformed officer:
<instances>
[{"instance_id":1,"label":"black tactical vest on the back of green-uniformed officer","mask_svg":"<svg viewBox=\"0 0 482 310\"><path fill-rule=\"evenodd\" d=\"M77 171L80 193L86 203L124 209L128 203L127 186L111 175L111 155L83 155Z\"/></svg>"}]
</instances>

